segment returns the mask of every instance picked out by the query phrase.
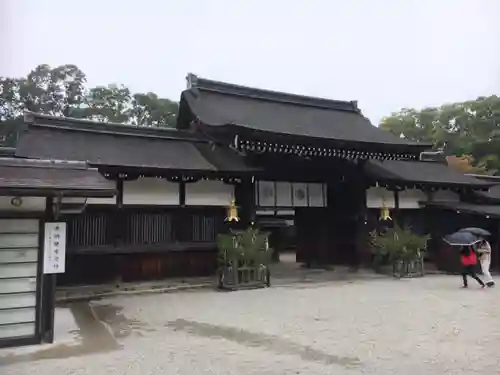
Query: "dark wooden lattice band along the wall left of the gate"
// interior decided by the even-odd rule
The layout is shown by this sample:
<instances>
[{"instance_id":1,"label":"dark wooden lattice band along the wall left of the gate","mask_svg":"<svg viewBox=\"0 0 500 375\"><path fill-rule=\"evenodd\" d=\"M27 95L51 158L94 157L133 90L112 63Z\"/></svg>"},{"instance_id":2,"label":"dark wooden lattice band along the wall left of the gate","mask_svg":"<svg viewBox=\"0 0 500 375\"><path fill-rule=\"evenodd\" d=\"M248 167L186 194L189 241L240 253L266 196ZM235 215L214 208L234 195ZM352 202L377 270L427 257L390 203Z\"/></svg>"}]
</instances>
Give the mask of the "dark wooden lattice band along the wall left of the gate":
<instances>
[{"instance_id":1,"label":"dark wooden lattice band along the wall left of the gate","mask_svg":"<svg viewBox=\"0 0 500 375\"><path fill-rule=\"evenodd\" d=\"M90 207L68 215L68 252L134 253L214 247L223 230L221 207ZM214 247L215 248L215 247Z\"/></svg>"}]
</instances>

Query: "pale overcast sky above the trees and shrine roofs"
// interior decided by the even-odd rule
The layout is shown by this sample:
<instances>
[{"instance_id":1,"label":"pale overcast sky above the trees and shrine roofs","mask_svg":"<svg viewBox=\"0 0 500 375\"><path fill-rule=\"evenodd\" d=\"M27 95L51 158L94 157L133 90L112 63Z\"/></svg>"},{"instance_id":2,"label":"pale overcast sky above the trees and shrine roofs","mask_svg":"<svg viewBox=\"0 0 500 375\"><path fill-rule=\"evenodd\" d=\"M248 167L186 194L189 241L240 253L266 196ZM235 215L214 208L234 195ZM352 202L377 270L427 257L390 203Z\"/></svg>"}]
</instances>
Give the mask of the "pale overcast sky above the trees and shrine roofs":
<instances>
[{"instance_id":1,"label":"pale overcast sky above the trees and shrine roofs","mask_svg":"<svg viewBox=\"0 0 500 375\"><path fill-rule=\"evenodd\" d=\"M500 0L0 0L0 75L78 65L178 100L185 76L402 107L500 94Z\"/></svg>"}]
</instances>

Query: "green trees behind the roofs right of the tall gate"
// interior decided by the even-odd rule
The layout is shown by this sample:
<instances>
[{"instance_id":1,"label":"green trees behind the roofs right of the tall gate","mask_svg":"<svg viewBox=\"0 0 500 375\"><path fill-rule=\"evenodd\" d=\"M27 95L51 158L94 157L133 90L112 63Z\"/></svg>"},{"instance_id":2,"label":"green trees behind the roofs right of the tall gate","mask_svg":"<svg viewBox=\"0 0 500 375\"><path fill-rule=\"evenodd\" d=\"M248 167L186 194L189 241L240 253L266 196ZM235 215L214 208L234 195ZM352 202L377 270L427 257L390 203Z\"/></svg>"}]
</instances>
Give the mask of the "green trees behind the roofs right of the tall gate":
<instances>
[{"instance_id":1,"label":"green trees behind the roofs right of the tall gate","mask_svg":"<svg viewBox=\"0 0 500 375\"><path fill-rule=\"evenodd\" d=\"M468 161L477 171L500 172L500 97L479 97L441 107L402 109L382 120L380 127L397 136L430 142L443 148L459 169Z\"/></svg>"}]
</instances>

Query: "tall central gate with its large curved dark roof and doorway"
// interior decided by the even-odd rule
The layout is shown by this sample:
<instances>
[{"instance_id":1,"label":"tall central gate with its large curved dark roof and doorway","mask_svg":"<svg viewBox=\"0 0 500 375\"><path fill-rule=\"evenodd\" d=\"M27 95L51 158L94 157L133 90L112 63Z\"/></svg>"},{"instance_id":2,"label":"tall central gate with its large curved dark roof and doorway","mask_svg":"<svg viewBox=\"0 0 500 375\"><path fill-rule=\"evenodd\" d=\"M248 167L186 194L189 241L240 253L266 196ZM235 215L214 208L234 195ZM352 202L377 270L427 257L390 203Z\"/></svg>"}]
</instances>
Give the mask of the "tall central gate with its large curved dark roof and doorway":
<instances>
[{"instance_id":1,"label":"tall central gate with its large curved dark roof and doorway","mask_svg":"<svg viewBox=\"0 0 500 375\"><path fill-rule=\"evenodd\" d=\"M280 93L193 74L181 94L177 128L210 136L258 169L253 174L256 223L274 221L262 227L280 233L277 223L293 219L297 259L308 264L362 262L366 160L418 160L429 148L373 126L356 101ZM237 203L245 209L248 202Z\"/></svg>"}]
</instances>

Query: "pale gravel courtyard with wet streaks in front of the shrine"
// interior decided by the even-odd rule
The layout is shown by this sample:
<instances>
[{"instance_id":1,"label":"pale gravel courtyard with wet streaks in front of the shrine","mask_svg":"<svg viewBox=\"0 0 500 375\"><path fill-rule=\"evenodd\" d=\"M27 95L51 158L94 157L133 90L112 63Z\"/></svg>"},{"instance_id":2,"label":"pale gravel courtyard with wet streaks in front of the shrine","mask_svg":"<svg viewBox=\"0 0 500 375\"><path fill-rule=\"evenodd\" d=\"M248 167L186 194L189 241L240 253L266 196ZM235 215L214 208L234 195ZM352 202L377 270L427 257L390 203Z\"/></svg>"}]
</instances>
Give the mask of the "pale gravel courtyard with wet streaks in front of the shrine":
<instances>
[{"instance_id":1,"label":"pale gravel courtyard with wet streaks in front of the shrine","mask_svg":"<svg viewBox=\"0 0 500 375\"><path fill-rule=\"evenodd\" d=\"M427 276L74 303L71 340L0 351L0 373L500 374L500 291L459 286Z\"/></svg>"}]
</instances>

